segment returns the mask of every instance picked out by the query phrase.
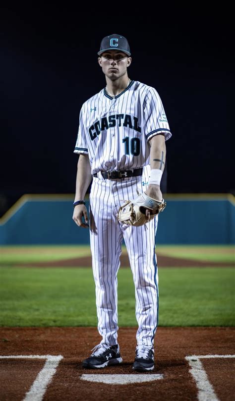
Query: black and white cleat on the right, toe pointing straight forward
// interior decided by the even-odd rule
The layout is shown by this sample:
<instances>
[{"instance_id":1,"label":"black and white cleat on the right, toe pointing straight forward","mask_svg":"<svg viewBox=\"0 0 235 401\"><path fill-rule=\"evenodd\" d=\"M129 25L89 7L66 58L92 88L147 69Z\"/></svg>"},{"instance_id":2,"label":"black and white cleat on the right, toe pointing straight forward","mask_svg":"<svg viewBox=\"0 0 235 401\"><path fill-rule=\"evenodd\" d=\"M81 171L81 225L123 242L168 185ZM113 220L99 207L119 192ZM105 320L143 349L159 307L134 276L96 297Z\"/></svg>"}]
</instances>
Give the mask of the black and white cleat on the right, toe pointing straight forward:
<instances>
[{"instance_id":1,"label":"black and white cleat on the right, toe pointing straight forward","mask_svg":"<svg viewBox=\"0 0 235 401\"><path fill-rule=\"evenodd\" d=\"M133 369L137 372L148 372L154 369L154 347L152 345L137 345Z\"/></svg>"}]
</instances>

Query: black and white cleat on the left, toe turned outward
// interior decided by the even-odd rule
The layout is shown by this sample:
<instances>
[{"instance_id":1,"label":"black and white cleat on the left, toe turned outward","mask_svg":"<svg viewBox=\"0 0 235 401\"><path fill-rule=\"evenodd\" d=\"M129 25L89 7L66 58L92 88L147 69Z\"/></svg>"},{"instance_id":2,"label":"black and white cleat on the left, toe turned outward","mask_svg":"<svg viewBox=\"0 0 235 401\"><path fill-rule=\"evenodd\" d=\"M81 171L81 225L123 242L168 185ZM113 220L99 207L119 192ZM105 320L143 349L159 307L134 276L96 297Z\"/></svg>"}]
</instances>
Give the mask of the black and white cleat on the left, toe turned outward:
<instances>
[{"instance_id":1,"label":"black and white cleat on the left, toe turned outward","mask_svg":"<svg viewBox=\"0 0 235 401\"><path fill-rule=\"evenodd\" d=\"M122 362L119 345L98 344L89 358L82 362L82 367L87 369L105 368L108 365L117 365Z\"/></svg>"}]
</instances>

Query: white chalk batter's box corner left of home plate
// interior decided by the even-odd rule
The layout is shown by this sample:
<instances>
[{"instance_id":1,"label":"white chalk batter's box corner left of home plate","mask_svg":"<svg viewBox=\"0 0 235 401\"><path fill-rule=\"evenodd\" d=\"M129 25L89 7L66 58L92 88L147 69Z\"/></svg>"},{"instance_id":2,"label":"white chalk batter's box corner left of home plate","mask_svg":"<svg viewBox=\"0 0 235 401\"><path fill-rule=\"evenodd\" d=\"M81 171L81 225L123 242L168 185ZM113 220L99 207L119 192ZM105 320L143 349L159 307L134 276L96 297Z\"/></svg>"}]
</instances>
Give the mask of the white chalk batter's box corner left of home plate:
<instances>
[{"instance_id":1,"label":"white chalk batter's box corner left of home plate","mask_svg":"<svg viewBox=\"0 0 235 401\"><path fill-rule=\"evenodd\" d=\"M0 355L0 358L7 359L46 359L44 367L38 373L29 391L26 393L23 401L42 401L43 396L47 390L48 384L52 381L53 376L56 373L57 366L62 355Z\"/></svg>"}]
</instances>

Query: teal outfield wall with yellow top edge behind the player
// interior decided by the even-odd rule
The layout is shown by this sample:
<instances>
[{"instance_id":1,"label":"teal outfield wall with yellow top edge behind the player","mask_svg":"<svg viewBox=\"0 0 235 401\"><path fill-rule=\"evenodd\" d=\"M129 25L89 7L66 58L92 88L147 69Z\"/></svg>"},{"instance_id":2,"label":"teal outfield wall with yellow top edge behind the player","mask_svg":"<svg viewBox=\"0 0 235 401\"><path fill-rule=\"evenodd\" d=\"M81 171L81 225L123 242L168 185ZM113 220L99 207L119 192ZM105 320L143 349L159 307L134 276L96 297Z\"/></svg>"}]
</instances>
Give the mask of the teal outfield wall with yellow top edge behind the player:
<instances>
[{"instance_id":1,"label":"teal outfield wall with yellow top edge behind the player","mask_svg":"<svg viewBox=\"0 0 235 401\"><path fill-rule=\"evenodd\" d=\"M232 195L167 195L157 243L234 244ZM89 229L72 220L72 195L24 195L0 219L0 244L87 244ZM87 199L87 206L89 199Z\"/></svg>"}]
</instances>

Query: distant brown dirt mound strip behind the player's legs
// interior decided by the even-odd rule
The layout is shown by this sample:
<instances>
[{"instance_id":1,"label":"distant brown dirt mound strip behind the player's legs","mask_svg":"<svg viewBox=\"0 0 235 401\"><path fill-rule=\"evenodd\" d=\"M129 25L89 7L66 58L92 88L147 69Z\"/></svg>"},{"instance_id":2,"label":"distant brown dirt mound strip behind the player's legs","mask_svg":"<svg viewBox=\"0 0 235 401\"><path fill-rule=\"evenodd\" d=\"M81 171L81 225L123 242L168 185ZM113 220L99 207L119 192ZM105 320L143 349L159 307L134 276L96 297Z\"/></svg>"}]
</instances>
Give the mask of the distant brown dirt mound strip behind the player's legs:
<instances>
[{"instance_id":1,"label":"distant brown dirt mound strip behind the player's legs","mask_svg":"<svg viewBox=\"0 0 235 401\"><path fill-rule=\"evenodd\" d=\"M128 255L122 254L120 257L122 267L129 267ZM216 262L205 260L193 260L186 258L171 257L166 255L157 255L159 267L230 267L232 262ZM91 267L91 256L82 256L80 258L70 258L53 260L47 262L30 262L30 263L15 263L13 266L18 267ZM234 265L235 266L235 265Z\"/></svg>"}]
</instances>

